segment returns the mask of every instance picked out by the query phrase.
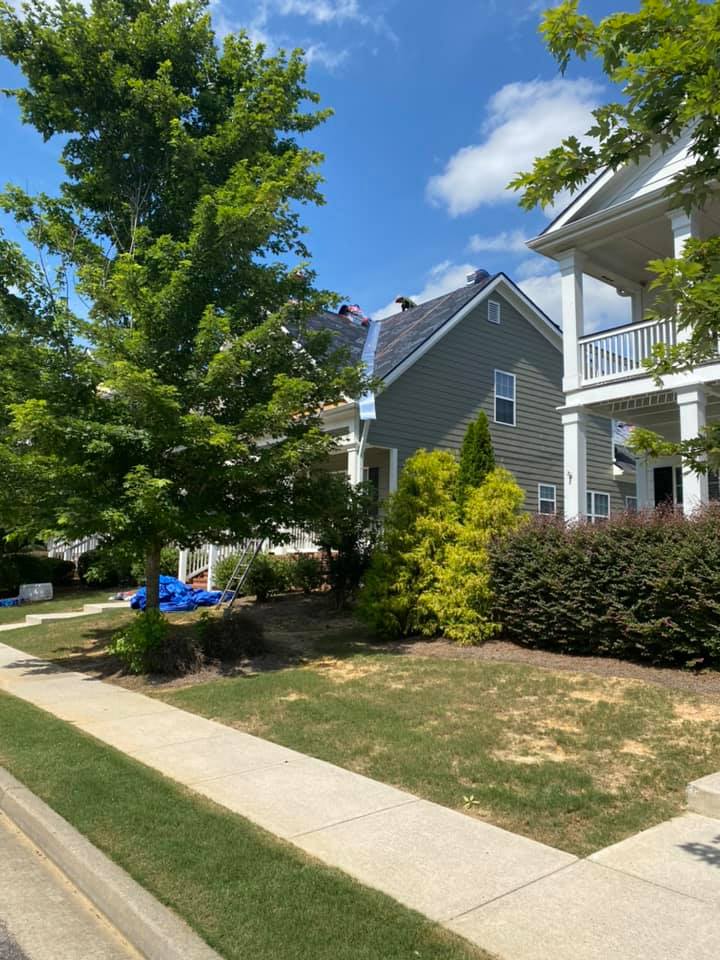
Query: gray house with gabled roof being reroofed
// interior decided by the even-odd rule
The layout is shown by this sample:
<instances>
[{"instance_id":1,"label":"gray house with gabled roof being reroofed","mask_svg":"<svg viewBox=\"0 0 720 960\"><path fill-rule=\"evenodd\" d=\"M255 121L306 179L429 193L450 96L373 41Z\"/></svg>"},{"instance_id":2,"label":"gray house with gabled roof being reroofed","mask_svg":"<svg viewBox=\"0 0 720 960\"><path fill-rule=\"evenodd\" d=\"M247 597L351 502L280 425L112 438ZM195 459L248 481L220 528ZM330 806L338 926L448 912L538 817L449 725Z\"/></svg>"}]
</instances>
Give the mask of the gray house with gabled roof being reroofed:
<instances>
[{"instance_id":1,"label":"gray house with gabled roof being reroofed","mask_svg":"<svg viewBox=\"0 0 720 960\"><path fill-rule=\"evenodd\" d=\"M338 440L327 469L373 482L384 499L409 456L457 452L484 410L496 460L524 489L526 509L562 515L562 333L509 277L477 271L458 290L366 326L334 313L313 323L382 383L325 412ZM616 455L611 420L591 420L587 449L591 519L631 509L632 462Z\"/></svg>"}]
</instances>

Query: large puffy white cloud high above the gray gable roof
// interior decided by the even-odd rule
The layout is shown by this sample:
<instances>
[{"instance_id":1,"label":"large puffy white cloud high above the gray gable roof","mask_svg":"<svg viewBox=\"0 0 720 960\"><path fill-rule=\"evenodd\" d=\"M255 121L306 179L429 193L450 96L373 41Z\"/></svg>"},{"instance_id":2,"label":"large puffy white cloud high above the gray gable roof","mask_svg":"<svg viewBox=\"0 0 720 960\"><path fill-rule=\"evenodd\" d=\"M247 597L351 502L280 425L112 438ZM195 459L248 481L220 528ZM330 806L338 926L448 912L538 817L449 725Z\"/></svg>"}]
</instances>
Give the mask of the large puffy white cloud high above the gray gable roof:
<instances>
[{"instance_id":1,"label":"large puffy white cloud high above the gray gable roof","mask_svg":"<svg viewBox=\"0 0 720 960\"><path fill-rule=\"evenodd\" d=\"M488 103L481 142L462 147L431 177L428 198L451 216L482 204L516 202L508 182L564 137L582 138L599 93L590 80L561 77L501 87Z\"/></svg>"}]
</instances>

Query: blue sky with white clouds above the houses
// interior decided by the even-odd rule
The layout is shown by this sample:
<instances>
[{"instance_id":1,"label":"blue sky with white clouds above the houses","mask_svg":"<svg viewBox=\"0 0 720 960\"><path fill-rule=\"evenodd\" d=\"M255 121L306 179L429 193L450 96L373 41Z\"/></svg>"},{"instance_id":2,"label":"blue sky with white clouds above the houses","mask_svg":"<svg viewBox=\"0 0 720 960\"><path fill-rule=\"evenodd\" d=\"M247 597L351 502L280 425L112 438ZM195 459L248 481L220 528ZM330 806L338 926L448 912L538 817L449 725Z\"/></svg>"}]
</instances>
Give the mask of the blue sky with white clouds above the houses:
<instances>
[{"instance_id":1,"label":"blue sky with white clouds above the houses","mask_svg":"<svg viewBox=\"0 0 720 960\"><path fill-rule=\"evenodd\" d=\"M327 203L309 209L322 286L380 315L399 294L427 299L473 267L504 270L559 322L552 265L526 250L547 222L524 213L508 179L569 133L609 91L597 68L565 78L537 29L536 0L220 0L220 32L247 29L270 49L301 46L309 84L334 117L308 143L326 155ZM634 5L633 5L634 6ZM602 16L617 9L590 0ZM629 9L625 6L624 9ZM0 86L17 77L0 63ZM2 180L52 190L57 146L0 101ZM594 326L626 302L591 284Z\"/></svg>"}]
</instances>

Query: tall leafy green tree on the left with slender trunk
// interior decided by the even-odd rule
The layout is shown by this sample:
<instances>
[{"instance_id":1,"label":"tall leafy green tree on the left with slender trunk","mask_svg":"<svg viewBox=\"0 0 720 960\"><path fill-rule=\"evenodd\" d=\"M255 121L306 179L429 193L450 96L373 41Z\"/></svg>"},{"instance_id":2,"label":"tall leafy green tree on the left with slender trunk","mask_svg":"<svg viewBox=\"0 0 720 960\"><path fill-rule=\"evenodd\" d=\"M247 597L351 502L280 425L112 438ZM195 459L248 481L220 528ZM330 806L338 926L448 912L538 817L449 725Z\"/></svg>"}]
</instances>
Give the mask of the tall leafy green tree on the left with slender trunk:
<instances>
[{"instance_id":1,"label":"tall leafy green tree on the left with slender trunk","mask_svg":"<svg viewBox=\"0 0 720 960\"><path fill-rule=\"evenodd\" d=\"M63 169L2 198L36 256L0 249L0 521L141 550L153 607L164 544L305 515L319 411L362 386L305 322L331 298L298 138L327 111L301 52L219 46L206 0L0 3L0 53Z\"/></svg>"}]
</instances>

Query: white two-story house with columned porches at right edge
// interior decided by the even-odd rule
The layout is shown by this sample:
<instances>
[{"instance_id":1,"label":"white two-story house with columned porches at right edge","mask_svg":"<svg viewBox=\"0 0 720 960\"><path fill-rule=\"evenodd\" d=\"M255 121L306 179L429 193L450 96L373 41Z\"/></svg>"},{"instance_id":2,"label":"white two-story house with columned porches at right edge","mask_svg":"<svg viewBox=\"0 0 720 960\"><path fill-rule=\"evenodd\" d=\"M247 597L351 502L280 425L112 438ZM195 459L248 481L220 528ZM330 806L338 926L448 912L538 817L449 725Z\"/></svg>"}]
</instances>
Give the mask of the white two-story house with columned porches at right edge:
<instances>
[{"instance_id":1,"label":"white two-story house with columned porches at right edge","mask_svg":"<svg viewBox=\"0 0 720 960\"><path fill-rule=\"evenodd\" d=\"M639 164L606 171L529 242L555 260L562 275L567 518L585 515L594 502L594 417L647 427L678 441L697 436L720 415L720 359L667 376L662 385L644 366L654 344L674 344L683 336L674 320L643 320L653 303L648 261L679 256L689 237L717 233L720 224L716 201L691 214L671 207L665 189L688 162L682 139ZM597 319L584 307L583 276L628 297L632 322L591 332ZM636 474L641 509L671 503L691 511L720 492L717 474L694 473L678 457L640 460Z\"/></svg>"}]
</instances>

